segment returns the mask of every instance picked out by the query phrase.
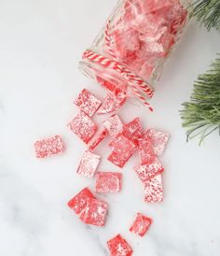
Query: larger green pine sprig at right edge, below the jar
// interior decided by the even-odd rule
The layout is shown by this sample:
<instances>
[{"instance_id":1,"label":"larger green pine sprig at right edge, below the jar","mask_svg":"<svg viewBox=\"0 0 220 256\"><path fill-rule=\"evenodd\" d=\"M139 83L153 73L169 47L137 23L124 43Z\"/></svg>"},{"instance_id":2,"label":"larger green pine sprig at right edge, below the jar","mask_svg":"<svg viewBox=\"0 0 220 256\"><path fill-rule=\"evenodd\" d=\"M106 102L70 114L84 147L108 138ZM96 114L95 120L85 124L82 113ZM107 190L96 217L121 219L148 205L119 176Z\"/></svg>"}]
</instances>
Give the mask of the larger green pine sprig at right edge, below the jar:
<instances>
[{"instance_id":1,"label":"larger green pine sprig at right edge, below the jar","mask_svg":"<svg viewBox=\"0 0 220 256\"><path fill-rule=\"evenodd\" d=\"M199 76L190 102L184 103L184 109L180 111L183 126L187 129L187 141L199 135L201 143L215 130L219 130L220 135L220 58L211 67Z\"/></svg>"}]
</instances>

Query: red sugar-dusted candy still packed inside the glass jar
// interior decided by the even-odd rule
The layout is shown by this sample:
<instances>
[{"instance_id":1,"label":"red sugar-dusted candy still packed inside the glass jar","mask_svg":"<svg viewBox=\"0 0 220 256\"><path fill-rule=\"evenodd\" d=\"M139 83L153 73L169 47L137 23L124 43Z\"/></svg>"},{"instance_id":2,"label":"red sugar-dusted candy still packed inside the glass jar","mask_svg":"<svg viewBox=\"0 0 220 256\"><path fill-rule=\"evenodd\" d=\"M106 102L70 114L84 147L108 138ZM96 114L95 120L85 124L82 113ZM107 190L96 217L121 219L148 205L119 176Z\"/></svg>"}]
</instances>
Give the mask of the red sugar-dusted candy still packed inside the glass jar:
<instances>
[{"instance_id":1,"label":"red sugar-dusted candy still packed inside the glass jar","mask_svg":"<svg viewBox=\"0 0 220 256\"><path fill-rule=\"evenodd\" d=\"M183 0L125 0L112 17L111 45L120 63L150 80L186 25ZM103 51L109 49L103 44Z\"/></svg>"}]
</instances>

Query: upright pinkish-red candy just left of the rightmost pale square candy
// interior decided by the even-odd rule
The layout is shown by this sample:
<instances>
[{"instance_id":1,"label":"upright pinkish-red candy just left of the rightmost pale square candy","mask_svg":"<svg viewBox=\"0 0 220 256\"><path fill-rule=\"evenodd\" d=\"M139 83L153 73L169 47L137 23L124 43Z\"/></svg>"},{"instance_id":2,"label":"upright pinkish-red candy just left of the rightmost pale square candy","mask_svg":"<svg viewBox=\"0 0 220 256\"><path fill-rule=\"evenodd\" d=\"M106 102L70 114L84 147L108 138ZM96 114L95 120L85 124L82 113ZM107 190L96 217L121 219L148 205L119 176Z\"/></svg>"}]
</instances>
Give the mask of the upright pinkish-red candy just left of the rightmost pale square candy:
<instances>
[{"instance_id":1,"label":"upright pinkish-red candy just left of the rightmost pale square candy","mask_svg":"<svg viewBox=\"0 0 220 256\"><path fill-rule=\"evenodd\" d=\"M141 164L152 164L156 155L153 149L153 143L149 136L144 135L144 137L139 140L139 153L141 157Z\"/></svg>"}]
</instances>

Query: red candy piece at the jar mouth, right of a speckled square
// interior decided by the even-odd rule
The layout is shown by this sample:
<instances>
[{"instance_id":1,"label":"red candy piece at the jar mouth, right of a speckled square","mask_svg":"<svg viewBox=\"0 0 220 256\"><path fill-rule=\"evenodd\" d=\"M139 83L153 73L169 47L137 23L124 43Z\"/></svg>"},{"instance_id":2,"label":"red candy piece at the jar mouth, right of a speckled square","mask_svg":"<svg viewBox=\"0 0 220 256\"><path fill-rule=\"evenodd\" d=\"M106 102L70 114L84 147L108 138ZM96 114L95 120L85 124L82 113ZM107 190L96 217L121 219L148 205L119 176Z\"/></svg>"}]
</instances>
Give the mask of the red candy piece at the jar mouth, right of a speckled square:
<instances>
[{"instance_id":1,"label":"red candy piece at the jar mouth, right of a speckled square","mask_svg":"<svg viewBox=\"0 0 220 256\"><path fill-rule=\"evenodd\" d=\"M116 111L122 107L126 101L126 92L117 89L115 92L107 92L103 99L103 105L97 113L99 115L107 114Z\"/></svg>"}]
</instances>

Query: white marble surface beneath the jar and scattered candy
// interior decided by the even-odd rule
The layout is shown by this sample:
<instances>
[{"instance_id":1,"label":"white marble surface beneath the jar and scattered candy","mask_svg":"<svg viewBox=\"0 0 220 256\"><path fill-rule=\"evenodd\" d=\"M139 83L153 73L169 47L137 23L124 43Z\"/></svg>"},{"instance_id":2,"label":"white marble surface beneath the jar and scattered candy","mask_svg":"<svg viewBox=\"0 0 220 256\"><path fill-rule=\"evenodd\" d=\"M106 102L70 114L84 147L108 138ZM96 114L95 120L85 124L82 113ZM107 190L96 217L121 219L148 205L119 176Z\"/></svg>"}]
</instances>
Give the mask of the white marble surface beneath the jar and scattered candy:
<instances>
[{"instance_id":1,"label":"white marble surface beneath the jar and scattered candy","mask_svg":"<svg viewBox=\"0 0 220 256\"><path fill-rule=\"evenodd\" d=\"M83 88L103 96L98 85L77 69L115 6L114 0L0 1L0 255L103 256L106 240L120 233L135 256L219 256L220 143L217 134L202 145L186 143L178 110L189 97L193 80L219 50L220 35L192 23L152 101L149 114L126 105L124 121L137 115L144 126L168 131L171 142L161 158L165 166L165 201L147 205L132 172L123 170L124 188L104 196L109 216L104 228L81 223L66 202L94 181L76 175L85 149L66 128L77 112L72 104ZM126 114L127 113L127 114ZM129 115L128 115L129 113ZM62 135L65 154L43 161L34 157L34 141ZM103 159L109 149L101 146ZM118 170L103 160L101 170ZM102 196L101 196L102 197ZM144 238L128 232L135 213L154 219Z\"/></svg>"}]
</instances>

